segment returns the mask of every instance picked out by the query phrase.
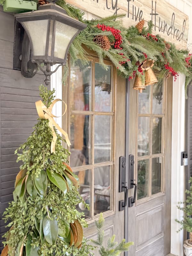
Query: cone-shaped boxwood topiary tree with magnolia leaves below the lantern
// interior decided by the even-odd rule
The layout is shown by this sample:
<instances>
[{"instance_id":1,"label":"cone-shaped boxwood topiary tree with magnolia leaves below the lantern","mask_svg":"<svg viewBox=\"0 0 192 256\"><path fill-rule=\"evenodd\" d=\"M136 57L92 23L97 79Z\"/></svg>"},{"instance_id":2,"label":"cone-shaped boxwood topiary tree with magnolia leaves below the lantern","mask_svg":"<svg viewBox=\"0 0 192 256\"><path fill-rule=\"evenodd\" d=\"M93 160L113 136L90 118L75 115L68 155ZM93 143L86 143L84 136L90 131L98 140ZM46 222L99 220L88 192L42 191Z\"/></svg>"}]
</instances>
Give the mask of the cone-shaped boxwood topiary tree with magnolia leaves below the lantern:
<instances>
[{"instance_id":1,"label":"cone-shaped boxwood topiary tree with magnolia leaves below the lantern","mask_svg":"<svg viewBox=\"0 0 192 256\"><path fill-rule=\"evenodd\" d=\"M46 108L54 99L54 90L40 86L40 96ZM78 177L66 164L68 150L61 145L57 133L55 153L48 119L38 119L35 130L15 153L22 161L15 181L14 201L4 212L11 227L5 233L2 256L86 256L92 246L83 238L86 227L83 213L76 205L80 197ZM87 207L87 205L85 204Z\"/></svg>"}]
</instances>

